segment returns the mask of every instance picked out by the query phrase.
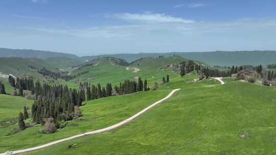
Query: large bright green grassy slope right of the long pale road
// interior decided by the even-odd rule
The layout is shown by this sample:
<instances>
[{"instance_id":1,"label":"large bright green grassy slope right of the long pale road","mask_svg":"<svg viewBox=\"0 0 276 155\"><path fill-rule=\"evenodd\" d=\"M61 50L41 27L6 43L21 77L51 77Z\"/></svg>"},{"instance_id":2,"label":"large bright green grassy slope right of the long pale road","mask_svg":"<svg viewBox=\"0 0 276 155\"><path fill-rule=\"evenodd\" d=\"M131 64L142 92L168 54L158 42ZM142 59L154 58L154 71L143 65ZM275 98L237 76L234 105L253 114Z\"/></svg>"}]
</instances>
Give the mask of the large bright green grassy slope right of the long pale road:
<instances>
[{"instance_id":1,"label":"large bright green grassy slope right of the long pale road","mask_svg":"<svg viewBox=\"0 0 276 155\"><path fill-rule=\"evenodd\" d=\"M164 89L180 85L172 98L117 130L28 154L276 153L276 88L231 80L205 87L204 82L178 80ZM249 138L240 138L245 131ZM67 148L74 143L76 147Z\"/></svg>"}]
</instances>

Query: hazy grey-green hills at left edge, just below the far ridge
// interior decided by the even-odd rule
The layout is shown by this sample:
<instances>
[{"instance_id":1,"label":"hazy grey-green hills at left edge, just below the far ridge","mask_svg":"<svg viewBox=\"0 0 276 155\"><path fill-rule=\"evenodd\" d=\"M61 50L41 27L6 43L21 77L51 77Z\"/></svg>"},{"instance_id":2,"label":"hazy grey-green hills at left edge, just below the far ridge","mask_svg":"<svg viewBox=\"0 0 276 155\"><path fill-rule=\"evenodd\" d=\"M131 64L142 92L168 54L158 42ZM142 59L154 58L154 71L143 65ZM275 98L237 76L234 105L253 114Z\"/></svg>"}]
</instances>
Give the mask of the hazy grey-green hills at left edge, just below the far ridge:
<instances>
[{"instance_id":1,"label":"hazy grey-green hills at left edge, just below the far ridge","mask_svg":"<svg viewBox=\"0 0 276 155\"><path fill-rule=\"evenodd\" d=\"M60 58L48 58L48 59L39 59L39 58L0 58L0 72L4 74L16 74L18 73L29 73L33 69L28 67L33 65L36 68L45 67L50 70L55 69L65 69L69 66L75 66L81 62L75 59L69 59L65 57ZM17 71L18 68L18 71Z\"/></svg>"}]
</instances>

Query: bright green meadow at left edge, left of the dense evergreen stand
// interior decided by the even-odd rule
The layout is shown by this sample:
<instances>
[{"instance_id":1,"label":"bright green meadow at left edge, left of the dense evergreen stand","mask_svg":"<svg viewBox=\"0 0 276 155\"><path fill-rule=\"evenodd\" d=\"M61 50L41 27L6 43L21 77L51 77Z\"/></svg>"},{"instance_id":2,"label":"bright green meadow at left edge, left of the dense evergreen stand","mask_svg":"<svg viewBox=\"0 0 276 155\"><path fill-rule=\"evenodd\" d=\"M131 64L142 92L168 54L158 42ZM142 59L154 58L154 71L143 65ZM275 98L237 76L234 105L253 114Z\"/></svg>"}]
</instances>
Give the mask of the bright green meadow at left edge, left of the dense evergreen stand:
<instances>
[{"instance_id":1,"label":"bright green meadow at left edge, left of the dense evergreen stand","mask_svg":"<svg viewBox=\"0 0 276 155\"><path fill-rule=\"evenodd\" d=\"M33 100L11 95L0 95L0 121L15 120L24 106L31 106ZM1 127L0 127L1 130Z\"/></svg>"}]
</instances>

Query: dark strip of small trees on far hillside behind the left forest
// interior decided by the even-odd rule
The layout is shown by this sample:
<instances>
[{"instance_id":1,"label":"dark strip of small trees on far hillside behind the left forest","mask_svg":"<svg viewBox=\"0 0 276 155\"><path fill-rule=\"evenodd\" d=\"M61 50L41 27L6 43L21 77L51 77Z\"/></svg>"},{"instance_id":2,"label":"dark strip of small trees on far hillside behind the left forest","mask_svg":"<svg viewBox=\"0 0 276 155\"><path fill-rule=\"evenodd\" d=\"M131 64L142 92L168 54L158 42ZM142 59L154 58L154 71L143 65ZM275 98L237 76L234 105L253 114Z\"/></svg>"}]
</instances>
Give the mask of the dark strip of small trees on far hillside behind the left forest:
<instances>
[{"instance_id":1,"label":"dark strip of small trees on far hillside behind the left forest","mask_svg":"<svg viewBox=\"0 0 276 155\"><path fill-rule=\"evenodd\" d=\"M38 73L42 74L43 76L50 76L53 79L63 79L65 81L69 81L74 79L73 76L67 75L66 72L54 72L51 70L46 69L45 67L41 68L40 70L37 70Z\"/></svg>"}]
</instances>

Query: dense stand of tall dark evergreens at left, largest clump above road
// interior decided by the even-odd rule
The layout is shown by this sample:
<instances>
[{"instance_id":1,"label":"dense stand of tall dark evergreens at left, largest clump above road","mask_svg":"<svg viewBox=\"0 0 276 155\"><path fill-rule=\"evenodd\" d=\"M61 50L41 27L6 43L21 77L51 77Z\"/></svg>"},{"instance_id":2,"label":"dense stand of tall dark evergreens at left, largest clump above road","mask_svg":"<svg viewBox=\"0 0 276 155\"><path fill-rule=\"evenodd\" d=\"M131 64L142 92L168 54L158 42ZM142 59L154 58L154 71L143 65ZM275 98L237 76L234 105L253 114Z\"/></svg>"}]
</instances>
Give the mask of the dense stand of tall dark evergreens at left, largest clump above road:
<instances>
[{"instance_id":1,"label":"dense stand of tall dark evergreens at left, largest clump above road","mask_svg":"<svg viewBox=\"0 0 276 155\"><path fill-rule=\"evenodd\" d=\"M85 100L84 90L68 89L67 86L40 85L36 82L34 93L37 100L32 105L32 118L36 123L44 125L45 119L53 118L56 128L58 122L72 120L75 114L75 106L82 106Z\"/></svg>"}]
</instances>

